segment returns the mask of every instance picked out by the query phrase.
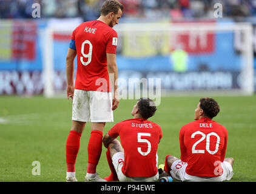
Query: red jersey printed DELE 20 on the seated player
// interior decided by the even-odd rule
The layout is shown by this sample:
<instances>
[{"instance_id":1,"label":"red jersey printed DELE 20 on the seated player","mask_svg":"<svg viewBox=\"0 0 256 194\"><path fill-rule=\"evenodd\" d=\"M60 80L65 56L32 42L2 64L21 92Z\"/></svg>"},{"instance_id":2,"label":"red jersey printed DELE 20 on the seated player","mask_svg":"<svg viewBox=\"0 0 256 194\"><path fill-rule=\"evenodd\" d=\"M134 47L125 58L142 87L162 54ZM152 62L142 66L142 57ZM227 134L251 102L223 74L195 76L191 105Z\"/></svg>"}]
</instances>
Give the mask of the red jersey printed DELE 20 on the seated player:
<instances>
[{"instance_id":1,"label":"red jersey printed DELE 20 on the seated player","mask_svg":"<svg viewBox=\"0 0 256 194\"><path fill-rule=\"evenodd\" d=\"M220 176L226 149L227 130L218 122L201 118L181 127L181 161L187 162L189 175Z\"/></svg>"}]
</instances>

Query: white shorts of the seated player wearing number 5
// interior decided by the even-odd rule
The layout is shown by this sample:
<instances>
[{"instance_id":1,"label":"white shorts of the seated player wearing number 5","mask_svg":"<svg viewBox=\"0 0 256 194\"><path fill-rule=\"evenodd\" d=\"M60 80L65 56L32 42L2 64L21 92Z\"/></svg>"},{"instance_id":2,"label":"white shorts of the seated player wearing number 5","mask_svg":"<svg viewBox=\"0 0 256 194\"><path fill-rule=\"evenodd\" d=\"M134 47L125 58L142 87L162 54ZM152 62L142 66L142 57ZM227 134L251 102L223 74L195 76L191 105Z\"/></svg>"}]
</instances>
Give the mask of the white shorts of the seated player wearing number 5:
<instances>
[{"instance_id":1,"label":"white shorts of the seated player wearing number 5","mask_svg":"<svg viewBox=\"0 0 256 194\"><path fill-rule=\"evenodd\" d=\"M113 166L115 167L116 174L121 182L155 182L158 181L159 174L151 177L129 177L123 174L122 167L124 164L124 153L115 153L112 157Z\"/></svg>"}]
</instances>

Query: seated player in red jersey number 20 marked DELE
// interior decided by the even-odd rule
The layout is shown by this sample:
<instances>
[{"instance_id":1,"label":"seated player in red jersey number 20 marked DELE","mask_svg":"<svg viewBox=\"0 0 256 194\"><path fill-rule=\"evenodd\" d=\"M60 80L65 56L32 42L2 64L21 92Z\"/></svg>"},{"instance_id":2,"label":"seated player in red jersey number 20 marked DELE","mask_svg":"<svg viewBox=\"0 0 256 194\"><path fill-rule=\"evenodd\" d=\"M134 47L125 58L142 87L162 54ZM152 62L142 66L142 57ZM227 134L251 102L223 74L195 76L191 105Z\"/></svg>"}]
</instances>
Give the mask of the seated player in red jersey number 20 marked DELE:
<instances>
[{"instance_id":1,"label":"seated player in red jersey number 20 marked DELE","mask_svg":"<svg viewBox=\"0 0 256 194\"><path fill-rule=\"evenodd\" d=\"M181 158L166 156L164 172L180 181L219 182L233 176L233 158L224 158L227 130L212 121L220 112L212 98L201 98L195 109L195 121L181 127Z\"/></svg>"}]
</instances>

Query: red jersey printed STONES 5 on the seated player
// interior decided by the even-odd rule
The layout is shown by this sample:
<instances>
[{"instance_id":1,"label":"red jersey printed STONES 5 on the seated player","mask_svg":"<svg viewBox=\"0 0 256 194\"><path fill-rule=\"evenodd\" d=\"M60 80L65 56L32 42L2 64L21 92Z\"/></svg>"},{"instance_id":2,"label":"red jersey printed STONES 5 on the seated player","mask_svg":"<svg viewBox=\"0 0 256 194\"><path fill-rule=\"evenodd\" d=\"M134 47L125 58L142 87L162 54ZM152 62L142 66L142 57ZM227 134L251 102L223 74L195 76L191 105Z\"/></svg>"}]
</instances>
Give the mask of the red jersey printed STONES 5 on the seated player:
<instances>
[{"instance_id":1,"label":"red jersey printed STONES 5 on the seated player","mask_svg":"<svg viewBox=\"0 0 256 194\"><path fill-rule=\"evenodd\" d=\"M129 177L155 176L157 148L163 136L160 125L145 119L119 122L109 130L109 136L120 141L124 149L122 172Z\"/></svg>"}]
</instances>

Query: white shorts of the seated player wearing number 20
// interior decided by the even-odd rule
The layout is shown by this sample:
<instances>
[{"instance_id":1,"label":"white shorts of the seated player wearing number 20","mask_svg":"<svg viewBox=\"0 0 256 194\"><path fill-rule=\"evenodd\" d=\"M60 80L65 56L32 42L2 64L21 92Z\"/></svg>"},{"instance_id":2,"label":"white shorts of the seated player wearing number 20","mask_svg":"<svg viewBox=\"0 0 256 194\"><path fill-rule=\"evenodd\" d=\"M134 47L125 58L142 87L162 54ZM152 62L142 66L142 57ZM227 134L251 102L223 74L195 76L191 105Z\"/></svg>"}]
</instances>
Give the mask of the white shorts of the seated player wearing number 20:
<instances>
[{"instance_id":1,"label":"white shorts of the seated player wearing number 20","mask_svg":"<svg viewBox=\"0 0 256 194\"><path fill-rule=\"evenodd\" d=\"M172 163L170 174L172 178L175 178L180 181L189 181L189 182L221 182L229 181L234 175L233 169L229 162L221 162L221 167L223 168L223 174L220 176L192 176L186 173L187 162L182 162L180 159Z\"/></svg>"}]
</instances>

